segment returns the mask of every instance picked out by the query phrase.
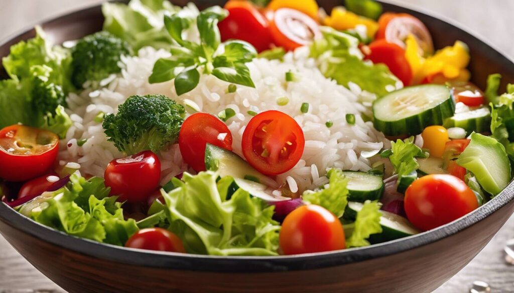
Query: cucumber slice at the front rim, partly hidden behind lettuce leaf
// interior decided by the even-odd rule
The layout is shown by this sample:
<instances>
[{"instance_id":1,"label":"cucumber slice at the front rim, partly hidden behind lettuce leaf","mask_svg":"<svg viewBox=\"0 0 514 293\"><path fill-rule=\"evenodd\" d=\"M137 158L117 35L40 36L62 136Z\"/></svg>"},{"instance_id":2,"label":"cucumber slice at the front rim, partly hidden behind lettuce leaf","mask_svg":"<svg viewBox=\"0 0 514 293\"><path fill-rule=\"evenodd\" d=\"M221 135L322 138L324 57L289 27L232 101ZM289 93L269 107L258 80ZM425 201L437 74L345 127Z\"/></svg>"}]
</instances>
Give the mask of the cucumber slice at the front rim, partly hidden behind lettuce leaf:
<instances>
[{"instance_id":1,"label":"cucumber slice at the front rim, partly hidden behind lettuce leaf","mask_svg":"<svg viewBox=\"0 0 514 293\"><path fill-rule=\"evenodd\" d=\"M355 220L357 212L362 209L363 204L358 202L348 202L344 211L344 219ZM382 217L380 217L380 226L382 226L382 232L378 234L372 234L368 239L370 243L381 243L391 241L419 233L412 224L406 218L398 216L395 213L380 210Z\"/></svg>"}]
</instances>

